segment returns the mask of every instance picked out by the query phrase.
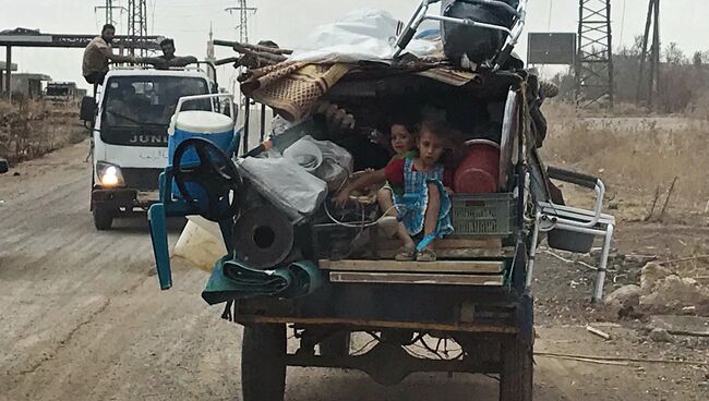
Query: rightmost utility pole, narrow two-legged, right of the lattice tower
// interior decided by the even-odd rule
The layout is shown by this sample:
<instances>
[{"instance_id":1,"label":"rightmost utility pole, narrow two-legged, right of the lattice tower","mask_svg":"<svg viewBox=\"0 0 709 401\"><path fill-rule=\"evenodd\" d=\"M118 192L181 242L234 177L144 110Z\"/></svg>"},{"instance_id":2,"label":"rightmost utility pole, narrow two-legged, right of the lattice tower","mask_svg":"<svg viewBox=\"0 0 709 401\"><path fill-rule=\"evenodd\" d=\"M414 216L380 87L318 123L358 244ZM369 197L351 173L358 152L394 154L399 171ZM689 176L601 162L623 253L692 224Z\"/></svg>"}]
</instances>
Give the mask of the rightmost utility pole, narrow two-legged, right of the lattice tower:
<instances>
[{"instance_id":1,"label":"rightmost utility pole, narrow two-legged, right of the lattice tower","mask_svg":"<svg viewBox=\"0 0 709 401\"><path fill-rule=\"evenodd\" d=\"M652 28L652 42L648 52L650 41L650 28ZM647 93L644 94L646 84L645 63L650 63L650 74L647 77ZM650 0L648 3L648 16L645 21L645 34L642 35L642 53L640 54L640 74L638 75L638 90L636 100L640 102L646 95L647 106L652 109L654 96L660 86L660 0Z\"/></svg>"}]
</instances>

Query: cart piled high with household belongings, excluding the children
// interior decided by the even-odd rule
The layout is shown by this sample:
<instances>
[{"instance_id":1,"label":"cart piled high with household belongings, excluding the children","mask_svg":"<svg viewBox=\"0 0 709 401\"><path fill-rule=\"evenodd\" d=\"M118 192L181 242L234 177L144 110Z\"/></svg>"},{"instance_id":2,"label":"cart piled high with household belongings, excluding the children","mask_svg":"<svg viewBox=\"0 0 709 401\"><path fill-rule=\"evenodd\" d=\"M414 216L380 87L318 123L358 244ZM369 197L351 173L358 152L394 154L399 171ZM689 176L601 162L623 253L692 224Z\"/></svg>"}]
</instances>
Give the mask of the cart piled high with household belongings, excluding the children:
<instances>
[{"instance_id":1,"label":"cart piled high with household belongings, excluding the children","mask_svg":"<svg viewBox=\"0 0 709 401\"><path fill-rule=\"evenodd\" d=\"M223 303L223 317L244 327L245 401L283 400L286 366L360 369L384 385L414 372L498 375L500 400L531 400L531 283L541 239L586 253L602 236L593 297L602 294L615 222L602 214L600 180L548 168L538 155L545 134L539 106L552 94L510 52L525 2L472 2L495 8L504 22L496 51L465 57L474 68L436 45L441 31L417 34L430 3L402 31L385 13L345 20L372 28L350 34L381 39L388 58L375 45L348 41L338 24L314 35L338 44L302 46L319 48L314 53L230 44L244 53L232 61L251 64L241 77L248 108L271 108L272 131L262 124L251 133L261 144L249 146L244 121L241 148L228 151L204 137L183 139L160 178L160 203L149 210L160 285L172 284L165 218L201 215L218 224L227 254L203 297ZM445 24L489 28L448 14L444 9ZM465 143L456 171L465 191L450 195L454 230L433 241L435 262L394 260L400 244L387 228L400 219L377 207L376 189L350 195L345 207L333 202L357 171L386 165L389 156L377 156L382 126L402 109L445 120ZM564 205L552 180L596 191L594 209Z\"/></svg>"}]
</instances>

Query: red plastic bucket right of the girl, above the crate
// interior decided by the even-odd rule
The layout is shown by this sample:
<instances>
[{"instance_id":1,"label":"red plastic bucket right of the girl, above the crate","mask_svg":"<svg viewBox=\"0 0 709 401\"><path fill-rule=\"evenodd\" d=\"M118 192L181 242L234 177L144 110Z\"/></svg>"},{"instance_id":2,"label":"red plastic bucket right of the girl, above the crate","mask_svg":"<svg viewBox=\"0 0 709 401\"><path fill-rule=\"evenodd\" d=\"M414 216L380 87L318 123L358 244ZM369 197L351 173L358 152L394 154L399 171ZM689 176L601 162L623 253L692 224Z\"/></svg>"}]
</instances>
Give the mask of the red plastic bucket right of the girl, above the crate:
<instances>
[{"instance_id":1,"label":"red plastic bucket right of the girl, above the crate","mask_svg":"<svg viewBox=\"0 0 709 401\"><path fill-rule=\"evenodd\" d=\"M456 169L453 190L464 194L497 192L500 145L488 139L472 139L466 145L468 155Z\"/></svg>"}]
</instances>

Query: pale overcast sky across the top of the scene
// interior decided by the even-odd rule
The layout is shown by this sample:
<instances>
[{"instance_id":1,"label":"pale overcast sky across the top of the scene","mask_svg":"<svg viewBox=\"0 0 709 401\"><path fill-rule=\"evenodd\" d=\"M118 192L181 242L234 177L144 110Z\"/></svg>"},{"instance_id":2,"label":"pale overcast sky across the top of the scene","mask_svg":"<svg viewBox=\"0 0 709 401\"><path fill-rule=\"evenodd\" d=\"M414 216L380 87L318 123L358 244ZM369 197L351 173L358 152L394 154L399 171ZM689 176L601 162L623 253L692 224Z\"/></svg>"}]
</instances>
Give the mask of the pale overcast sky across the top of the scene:
<instances>
[{"instance_id":1,"label":"pale overcast sky across the top of the scene","mask_svg":"<svg viewBox=\"0 0 709 401\"><path fill-rule=\"evenodd\" d=\"M113 3L127 5L128 0ZM104 11L94 8L103 4L101 0L0 0L0 31L25 27L43 33L98 33ZM209 24L215 38L237 38L237 16L225 12L225 8L237 5L236 0L147 0L147 4L148 33L173 37L178 54L203 58ZM313 26L332 22L353 8L381 8L408 20L417 4L417 0L250 0L249 5L259 9L251 19L250 38L269 38L293 48ZM648 0L612 0L614 47L630 44L634 36L641 34L647 4ZM662 1L661 17L663 47L676 41L688 54L709 51L709 0ZM127 31L125 20L123 14L117 26L119 34ZM577 21L578 0L530 0L526 31L576 32ZM517 51L524 56L525 50L522 42ZM228 56L229 49L217 48L217 58ZM86 86L81 76L81 49L13 49L13 62L21 72L46 73L55 81L75 81ZM4 60L4 49L0 50L0 60ZM220 72L223 86L228 86L231 70L224 68Z\"/></svg>"}]
</instances>

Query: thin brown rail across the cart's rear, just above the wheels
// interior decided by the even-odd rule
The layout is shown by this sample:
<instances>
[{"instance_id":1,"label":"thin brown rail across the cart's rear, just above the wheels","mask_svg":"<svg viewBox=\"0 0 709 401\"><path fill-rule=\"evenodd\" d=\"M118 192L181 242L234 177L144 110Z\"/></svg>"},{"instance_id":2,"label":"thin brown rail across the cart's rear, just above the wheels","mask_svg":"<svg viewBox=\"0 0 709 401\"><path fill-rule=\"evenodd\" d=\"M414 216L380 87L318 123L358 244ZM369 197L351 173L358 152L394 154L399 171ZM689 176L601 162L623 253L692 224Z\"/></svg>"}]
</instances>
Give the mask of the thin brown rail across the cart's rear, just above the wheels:
<instances>
[{"instance_id":1,"label":"thin brown rail across the cart's rear, just above the wheels","mask_svg":"<svg viewBox=\"0 0 709 401\"><path fill-rule=\"evenodd\" d=\"M514 326L491 326L476 324L440 324L426 321L394 321L394 320L369 320L369 319L346 319L339 317L288 317L288 316L257 316L257 315L236 315L233 321L237 323L278 323L296 325L344 325L353 328L393 328L393 329L411 329L411 330L440 330L440 331L467 331L467 332L498 332L515 333L517 329Z\"/></svg>"}]
</instances>

